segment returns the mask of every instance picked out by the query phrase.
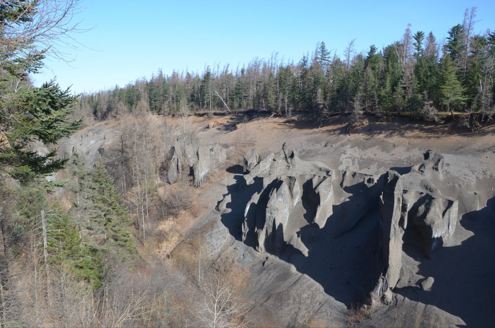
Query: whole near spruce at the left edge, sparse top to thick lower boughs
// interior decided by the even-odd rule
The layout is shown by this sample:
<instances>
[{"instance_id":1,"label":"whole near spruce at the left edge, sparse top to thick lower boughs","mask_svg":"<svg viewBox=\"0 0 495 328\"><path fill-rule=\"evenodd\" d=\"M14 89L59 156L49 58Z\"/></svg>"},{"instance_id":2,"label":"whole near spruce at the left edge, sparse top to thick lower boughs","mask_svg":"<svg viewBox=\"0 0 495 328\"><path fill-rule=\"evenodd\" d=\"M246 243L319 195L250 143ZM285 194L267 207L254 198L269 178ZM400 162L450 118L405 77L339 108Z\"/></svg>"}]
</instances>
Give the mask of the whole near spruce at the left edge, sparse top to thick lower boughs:
<instances>
[{"instance_id":1,"label":"whole near spruce at the left edge, sparse top to thick lower boughs","mask_svg":"<svg viewBox=\"0 0 495 328\"><path fill-rule=\"evenodd\" d=\"M81 122L68 121L77 97L53 81L36 88L11 87L14 80L29 84L28 74L43 67L45 50L35 43L40 35L34 31L42 28L35 20L46 9L39 1L2 1L0 5L0 174L8 174L23 184L40 181L38 177L55 173L66 162L56 159L56 150L40 155L28 145L33 141L55 144L76 131ZM59 22L63 19L60 17ZM12 37L12 29L29 28L34 29L32 34L25 31L27 35ZM45 36L51 32L46 33Z\"/></svg>"}]
</instances>

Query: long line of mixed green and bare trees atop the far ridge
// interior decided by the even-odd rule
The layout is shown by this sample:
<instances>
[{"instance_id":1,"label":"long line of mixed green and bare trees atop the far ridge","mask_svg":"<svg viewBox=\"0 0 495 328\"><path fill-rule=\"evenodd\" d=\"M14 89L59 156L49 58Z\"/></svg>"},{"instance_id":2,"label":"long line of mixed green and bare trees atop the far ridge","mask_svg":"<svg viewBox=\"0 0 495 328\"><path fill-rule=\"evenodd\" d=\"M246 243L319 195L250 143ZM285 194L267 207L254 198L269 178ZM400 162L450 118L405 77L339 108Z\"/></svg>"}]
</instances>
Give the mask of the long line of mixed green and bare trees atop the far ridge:
<instances>
[{"instance_id":1,"label":"long line of mixed green and bare trees atop the far ridge","mask_svg":"<svg viewBox=\"0 0 495 328\"><path fill-rule=\"evenodd\" d=\"M344 56L319 42L311 55L284 62L277 54L258 57L235 70L230 64L203 72L161 69L124 87L83 94L76 116L106 119L146 108L174 114L193 111L253 109L290 117L311 112L323 122L334 114L369 112L407 114L438 120L438 111L494 112L495 32L475 33L476 7L466 9L462 23L445 40L432 32L415 33L409 24L399 41L358 53L354 40Z\"/></svg>"}]
</instances>

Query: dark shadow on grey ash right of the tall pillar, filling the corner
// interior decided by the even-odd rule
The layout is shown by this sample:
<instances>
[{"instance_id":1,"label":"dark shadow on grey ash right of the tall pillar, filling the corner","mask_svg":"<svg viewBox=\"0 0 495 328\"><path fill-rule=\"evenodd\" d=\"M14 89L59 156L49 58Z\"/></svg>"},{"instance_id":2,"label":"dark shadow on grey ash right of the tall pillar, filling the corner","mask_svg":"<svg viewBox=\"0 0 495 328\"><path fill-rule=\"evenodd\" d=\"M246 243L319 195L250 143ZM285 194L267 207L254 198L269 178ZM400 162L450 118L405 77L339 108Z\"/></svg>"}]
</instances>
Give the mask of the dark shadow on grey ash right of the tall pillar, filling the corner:
<instances>
[{"instance_id":1,"label":"dark shadow on grey ash right of the tall pillar, filling the corner","mask_svg":"<svg viewBox=\"0 0 495 328\"><path fill-rule=\"evenodd\" d=\"M493 327L495 197L489 199L481 210L464 214L459 223L474 235L461 245L441 247L432 254L431 259L427 259L417 248L404 245L407 255L421 259L419 272L434 278L431 291L419 287L394 291L461 318L466 326L459 327Z\"/></svg>"}]
</instances>

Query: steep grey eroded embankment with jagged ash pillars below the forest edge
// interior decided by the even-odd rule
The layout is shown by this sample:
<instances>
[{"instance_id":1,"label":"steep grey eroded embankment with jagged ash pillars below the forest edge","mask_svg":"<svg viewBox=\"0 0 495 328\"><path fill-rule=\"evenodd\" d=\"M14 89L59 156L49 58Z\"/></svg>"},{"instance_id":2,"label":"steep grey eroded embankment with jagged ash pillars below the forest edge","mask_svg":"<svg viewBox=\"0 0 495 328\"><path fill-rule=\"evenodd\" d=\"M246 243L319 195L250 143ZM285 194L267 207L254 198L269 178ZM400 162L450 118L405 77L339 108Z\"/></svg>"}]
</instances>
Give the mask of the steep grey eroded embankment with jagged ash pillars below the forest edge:
<instances>
[{"instance_id":1,"label":"steep grey eroded embankment with jagged ash pillars below the forest edge","mask_svg":"<svg viewBox=\"0 0 495 328\"><path fill-rule=\"evenodd\" d=\"M181 223L191 226L184 245L201 240L213 266L243 273L251 318L493 326L494 127L461 133L369 117L348 135L339 119L322 128L265 119L194 118L198 146L236 148L228 163L256 151L244 168L210 173L194 191L197 218ZM88 139L83 151L93 158L109 128L100 123L73 141Z\"/></svg>"}]
</instances>

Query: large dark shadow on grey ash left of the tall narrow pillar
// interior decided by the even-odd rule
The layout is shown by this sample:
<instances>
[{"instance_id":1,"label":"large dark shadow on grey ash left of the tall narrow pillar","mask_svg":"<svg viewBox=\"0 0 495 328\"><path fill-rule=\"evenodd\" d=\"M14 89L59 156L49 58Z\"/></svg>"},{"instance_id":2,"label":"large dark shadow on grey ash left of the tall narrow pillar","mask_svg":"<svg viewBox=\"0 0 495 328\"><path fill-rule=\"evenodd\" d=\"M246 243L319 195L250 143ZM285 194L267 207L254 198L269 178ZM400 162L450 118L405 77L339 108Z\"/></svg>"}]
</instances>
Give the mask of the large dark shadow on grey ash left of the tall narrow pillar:
<instances>
[{"instance_id":1,"label":"large dark shadow on grey ash left of the tall narrow pillar","mask_svg":"<svg viewBox=\"0 0 495 328\"><path fill-rule=\"evenodd\" d=\"M263 190L263 182L262 179L255 178L254 183L247 186L242 175L236 175L235 179L236 184L231 186L232 201L227 204L227 208L231 211L223 213L221 221L232 236L242 241L244 211L251 196ZM257 211L256 222L252 222L253 224L263 221L262 219L258 221L258 216L266 209L269 190L270 188L264 189L256 207L250 207L250 211L260 209ZM360 200L358 195L350 195L347 202L352 202L354 199ZM304 273L317 281L326 294L344 303L347 307L359 303L367 297L367 293L374 287L374 282L377 280L373 271L375 263L373 259L376 258L378 250L378 199L371 201L375 201L376 208L362 214L361 219L339 237L335 237L335 231L341 222L333 217L330 217L322 228L319 228L316 223L310 223L298 229L297 242L305 245L308 249L307 255L290 243L284 243L281 248L278 247L279 241L284 240L281 225L274 227L276 232L273 235L277 235L278 242L265 240L265 250L268 254L293 264L299 273ZM352 212L352 206L346 204L347 202L334 205L334 213L344 215L347 212L351 215L349 212ZM306 212L314 212L315 209L308 207L307 201L302 203L303 218L309 220ZM248 215L248 217L252 216ZM254 233L250 232L247 235L245 244L250 247L255 245ZM260 258L264 256L266 255L260 254Z\"/></svg>"}]
</instances>

